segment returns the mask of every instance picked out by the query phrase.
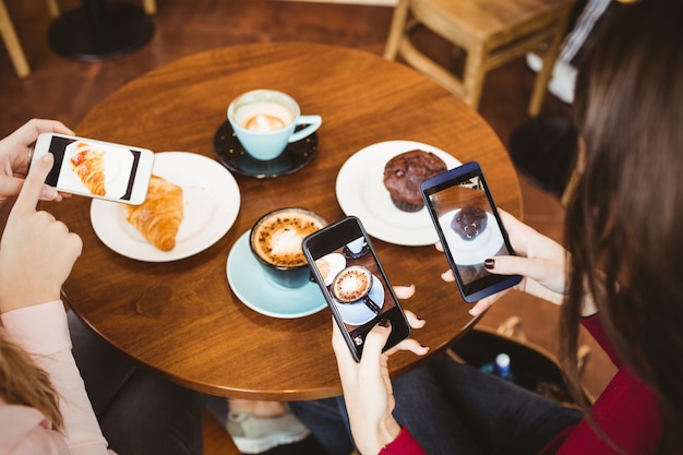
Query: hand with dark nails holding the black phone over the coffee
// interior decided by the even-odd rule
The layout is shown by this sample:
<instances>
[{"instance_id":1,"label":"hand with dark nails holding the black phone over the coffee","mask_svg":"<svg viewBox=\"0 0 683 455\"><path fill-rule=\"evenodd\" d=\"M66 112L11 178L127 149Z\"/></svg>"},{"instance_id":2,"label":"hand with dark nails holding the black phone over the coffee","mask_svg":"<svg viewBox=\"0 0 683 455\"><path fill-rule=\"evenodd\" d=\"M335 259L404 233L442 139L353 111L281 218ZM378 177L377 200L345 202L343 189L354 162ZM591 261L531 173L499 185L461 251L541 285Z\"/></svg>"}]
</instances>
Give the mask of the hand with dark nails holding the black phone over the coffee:
<instances>
[{"instance_id":1,"label":"hand with dark nails holding the black phone over the coffee","mask_svg":"<svg viewBox=\"0 0 683 455\"><path fill-rule=\"evenodd\" d=\"M395 287L394 290L403 299L415 292L412 286ZM424 321L414 313L406 311L406 316L411 327L424 326ZM423 356L429 348L408 338L383 354L382 349L392 327L380 323L368 334L361 360L357 363L339 327L334 321L332 325L332 347L337 358L354 440L360 453L376 454L394 441L400 432L400 427L392 416L395 400L388 375L388 357L398 350L410 350L418 356Z\"/></svg>"}]
</instances>

